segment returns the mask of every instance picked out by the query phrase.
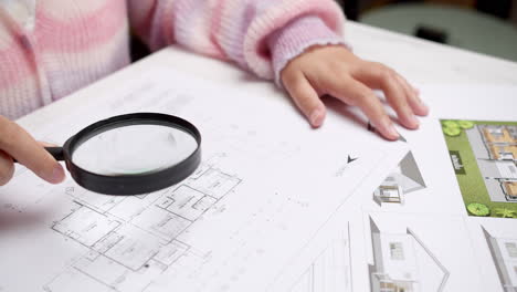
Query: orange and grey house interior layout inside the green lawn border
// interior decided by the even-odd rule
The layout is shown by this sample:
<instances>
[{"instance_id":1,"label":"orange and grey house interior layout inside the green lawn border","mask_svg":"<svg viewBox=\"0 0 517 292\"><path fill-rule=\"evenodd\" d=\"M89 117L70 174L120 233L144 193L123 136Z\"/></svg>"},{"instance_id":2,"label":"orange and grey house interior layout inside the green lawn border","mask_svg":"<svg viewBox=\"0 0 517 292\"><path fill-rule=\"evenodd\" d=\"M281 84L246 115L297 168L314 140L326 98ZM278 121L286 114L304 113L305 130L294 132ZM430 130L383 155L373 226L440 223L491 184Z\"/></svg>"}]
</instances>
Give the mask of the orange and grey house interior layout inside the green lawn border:
<instances>
[{"instance_id":1,"label":"orange and grey house interior layout inside the green lawn border","mask_svg":"<svg viewBox=\"0 0 517 292\"><path fill-rule=\"evenodd\" d=\"M517 202L517 126L476 125L466 133L490 200Z\"/></svg>"}]
</instances>

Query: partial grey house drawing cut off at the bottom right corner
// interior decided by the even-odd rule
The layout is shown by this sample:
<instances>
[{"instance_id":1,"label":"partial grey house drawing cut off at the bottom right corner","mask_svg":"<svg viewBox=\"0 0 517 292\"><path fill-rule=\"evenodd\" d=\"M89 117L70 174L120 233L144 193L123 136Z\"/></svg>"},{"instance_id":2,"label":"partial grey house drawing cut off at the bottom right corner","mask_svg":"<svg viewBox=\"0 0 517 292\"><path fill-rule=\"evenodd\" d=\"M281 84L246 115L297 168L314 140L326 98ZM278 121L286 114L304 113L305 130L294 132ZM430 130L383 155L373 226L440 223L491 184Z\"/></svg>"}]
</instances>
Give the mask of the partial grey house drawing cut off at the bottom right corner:
<instances>
[{"instance_id":1,"label":"partial grey house drawing cut off at the bottom right corner","mask_svg":"<svg viewBox=\"0 0 517 292\"><path fill-rule=\"evenodd\" d=\"M517 238L498 238L482 227L505 292L517 292Z\"/></svg>"}]
</instances>

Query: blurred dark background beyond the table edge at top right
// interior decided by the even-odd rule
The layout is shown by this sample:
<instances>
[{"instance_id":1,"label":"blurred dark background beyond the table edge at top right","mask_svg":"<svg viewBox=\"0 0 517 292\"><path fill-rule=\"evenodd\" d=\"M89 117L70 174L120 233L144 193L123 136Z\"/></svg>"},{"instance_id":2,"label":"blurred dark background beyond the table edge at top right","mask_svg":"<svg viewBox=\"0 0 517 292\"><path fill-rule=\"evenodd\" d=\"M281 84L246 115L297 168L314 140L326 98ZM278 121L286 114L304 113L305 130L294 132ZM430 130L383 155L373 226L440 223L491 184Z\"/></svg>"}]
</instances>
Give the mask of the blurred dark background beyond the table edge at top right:
<instances>
[{"instance_id":1,"label":"blurred dark background beyond the table edge at top right","mask_svg":"<svg viewBox=\"0 0 517 292\"><path fill-rule=\"evenodd\" d=\"M517 62L517 0L338 0L348 19Z\"/></svg>"}]
</instances>

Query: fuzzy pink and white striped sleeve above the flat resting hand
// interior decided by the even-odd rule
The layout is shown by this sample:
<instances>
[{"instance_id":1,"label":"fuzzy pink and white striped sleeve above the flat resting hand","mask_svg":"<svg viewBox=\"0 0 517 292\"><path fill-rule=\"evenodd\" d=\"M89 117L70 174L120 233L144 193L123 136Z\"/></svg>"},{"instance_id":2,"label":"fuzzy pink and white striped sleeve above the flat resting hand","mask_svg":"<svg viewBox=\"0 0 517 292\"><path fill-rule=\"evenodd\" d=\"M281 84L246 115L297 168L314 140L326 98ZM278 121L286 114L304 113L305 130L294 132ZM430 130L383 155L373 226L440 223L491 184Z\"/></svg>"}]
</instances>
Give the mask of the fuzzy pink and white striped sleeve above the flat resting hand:
<instances>
[{"instance_id":1,"label":"fuzzy pink and white striped sleeve above the flat resting hand","mask_svg":"<svg viewBox=\"0 0 517 292\"><path fill-rule=\"evenodd\" d=\"M334 0L128 0L128 9L151 50L178 43L270 80L309 45L338 43L345 20Z\"/></svg>"}]
</instances>

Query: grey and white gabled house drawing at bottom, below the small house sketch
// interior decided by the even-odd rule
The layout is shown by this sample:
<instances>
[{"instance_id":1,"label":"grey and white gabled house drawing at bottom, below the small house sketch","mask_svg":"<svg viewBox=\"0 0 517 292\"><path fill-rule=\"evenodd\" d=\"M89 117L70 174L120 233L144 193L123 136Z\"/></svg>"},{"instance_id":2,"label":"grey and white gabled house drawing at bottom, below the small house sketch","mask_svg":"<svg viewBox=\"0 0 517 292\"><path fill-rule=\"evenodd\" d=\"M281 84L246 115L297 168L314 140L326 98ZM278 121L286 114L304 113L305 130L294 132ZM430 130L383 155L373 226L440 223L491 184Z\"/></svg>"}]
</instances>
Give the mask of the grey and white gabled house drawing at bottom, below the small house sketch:
<instances>
[{"instance_id":1,"label":"grey and white gabled house drawing at bottom, below the small house sketch","mask_svg":"<svg viewBox=\"0 0 517 292\"><path fill-rule=\"evenodd\" d=\"M450 272L419 237L379 230L370 217L373 264L369 265L371 292L443 291Z\"/></svg>"}]
</instances>

